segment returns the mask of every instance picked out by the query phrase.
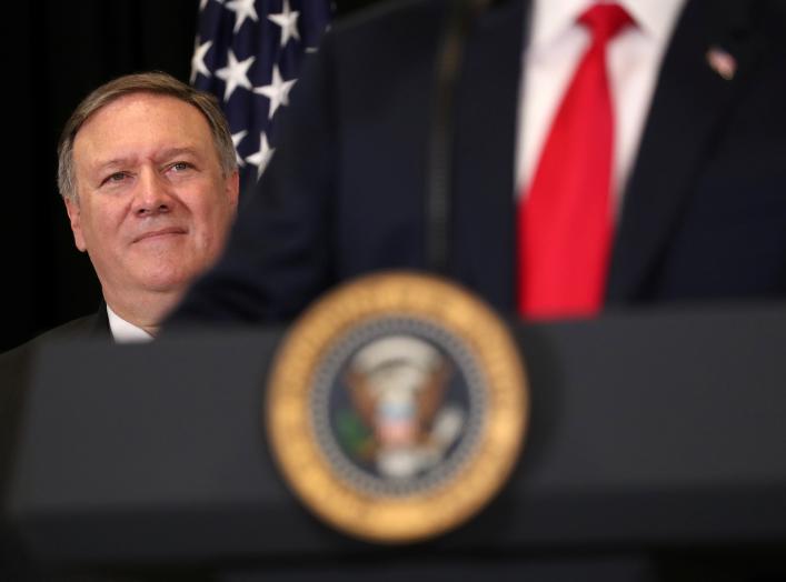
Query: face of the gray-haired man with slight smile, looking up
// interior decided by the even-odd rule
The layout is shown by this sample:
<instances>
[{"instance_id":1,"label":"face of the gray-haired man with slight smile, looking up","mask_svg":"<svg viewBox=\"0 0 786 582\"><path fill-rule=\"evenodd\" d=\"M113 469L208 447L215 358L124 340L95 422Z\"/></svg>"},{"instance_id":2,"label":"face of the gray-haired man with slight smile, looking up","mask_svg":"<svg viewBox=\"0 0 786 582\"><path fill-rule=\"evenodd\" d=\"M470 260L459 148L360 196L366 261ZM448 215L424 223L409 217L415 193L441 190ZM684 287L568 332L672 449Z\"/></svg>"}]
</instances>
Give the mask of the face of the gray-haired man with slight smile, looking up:
<instances>
[{"instance_id":1,"label":"face of the gray-haired man with slight smile, looking up","mask_svg":"<svg viewBox=\"0 0 786 582\"><path fill-rule=\"evenodd\" d=\"M130 94L77 133L74 242L105 297L183 291L217 258L235 217L238 175L223 178L207 120L171 97Z\"/></svg>"}]
</instances>

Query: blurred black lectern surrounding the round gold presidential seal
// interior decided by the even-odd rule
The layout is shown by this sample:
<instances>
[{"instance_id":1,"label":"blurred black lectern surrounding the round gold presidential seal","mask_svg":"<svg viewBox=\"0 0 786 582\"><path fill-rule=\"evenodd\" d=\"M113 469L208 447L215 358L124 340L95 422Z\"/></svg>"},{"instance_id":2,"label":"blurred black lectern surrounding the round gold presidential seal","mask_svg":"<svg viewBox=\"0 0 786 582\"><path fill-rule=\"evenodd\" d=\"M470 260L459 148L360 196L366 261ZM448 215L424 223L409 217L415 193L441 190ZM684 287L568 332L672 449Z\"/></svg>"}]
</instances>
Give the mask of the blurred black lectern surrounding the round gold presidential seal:
<instances>
[{"instance_id":1,"label":"blurred black lectern surrounding the round gold presidential seal","mask_svg":"<svg viewBox=\"0 0 786 582\"><path fill-rule=\"evenodd\" d=\"M350 540L288 492L262 425L285 330L46 347L10 512L53 564L247 572L236 580L519 579L530 559L538 579L566 555L786 550L784 305L513 331L531 383L524 454L490 506L439 540Z\"/></svg>"}]
</instances>

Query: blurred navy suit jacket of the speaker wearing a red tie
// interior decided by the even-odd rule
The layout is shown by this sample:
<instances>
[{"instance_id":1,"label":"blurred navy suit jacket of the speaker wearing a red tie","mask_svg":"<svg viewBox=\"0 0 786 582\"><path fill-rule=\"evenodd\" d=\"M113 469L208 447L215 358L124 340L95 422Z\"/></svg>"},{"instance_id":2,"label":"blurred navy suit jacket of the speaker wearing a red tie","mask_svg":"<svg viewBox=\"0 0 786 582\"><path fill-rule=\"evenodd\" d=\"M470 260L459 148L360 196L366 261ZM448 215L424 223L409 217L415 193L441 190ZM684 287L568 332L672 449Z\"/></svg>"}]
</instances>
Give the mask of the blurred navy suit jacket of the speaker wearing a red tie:
<instances>
[{"instance_id":1,"label":"blurred navy suit jacket of the speaker wearing a red tie","mask_svg":"<svg viewBox=\"0 0 786 582\"><path fill-rule=\"evenodd\" d=\"M427 269L425 189L444 1L335 27L220 263L175 320L280 320L332 284ZM474 27L457 94L449 272L503 311L516 292L514 150L527 2ZM627 184L607 304L786 293L786 10L689 0ZM707 61L718 48L732 80Z\"/></svg>"}]
</instances>

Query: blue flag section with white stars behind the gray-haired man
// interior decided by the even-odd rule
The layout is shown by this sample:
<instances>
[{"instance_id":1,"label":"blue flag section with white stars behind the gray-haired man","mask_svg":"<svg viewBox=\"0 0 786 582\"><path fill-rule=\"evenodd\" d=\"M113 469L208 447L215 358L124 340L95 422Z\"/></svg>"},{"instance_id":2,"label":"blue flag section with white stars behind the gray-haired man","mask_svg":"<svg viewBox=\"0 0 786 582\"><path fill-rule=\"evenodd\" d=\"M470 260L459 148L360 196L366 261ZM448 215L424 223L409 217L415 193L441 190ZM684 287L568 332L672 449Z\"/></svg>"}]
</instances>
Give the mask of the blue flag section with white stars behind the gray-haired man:
<instances>
[{"instance_id":1,"label":"blue flag section with white stars behind the gray-haired man","mask_svg":"<svg viewBox=\"0 0 786 582\"><path fill-rule=\"evenodd\" d=\"M275 146L277 113L306 53L316 50L329 0L200 0L191 84L216 94L229 119L241 190L259 180Z\"/></svg>"}]
</instances>

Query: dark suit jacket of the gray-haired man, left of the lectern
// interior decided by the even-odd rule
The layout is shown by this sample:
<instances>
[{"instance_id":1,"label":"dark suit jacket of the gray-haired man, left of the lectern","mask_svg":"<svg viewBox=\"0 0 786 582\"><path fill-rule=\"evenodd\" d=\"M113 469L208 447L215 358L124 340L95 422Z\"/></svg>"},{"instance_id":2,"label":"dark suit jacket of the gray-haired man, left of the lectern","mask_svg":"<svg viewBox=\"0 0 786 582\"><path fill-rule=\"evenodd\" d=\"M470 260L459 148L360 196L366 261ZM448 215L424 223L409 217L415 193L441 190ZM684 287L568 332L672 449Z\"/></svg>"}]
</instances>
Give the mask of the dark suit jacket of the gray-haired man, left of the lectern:
<instances>
[{"instance_id":1,"label":"dark suit jacket of the gray-haired man, left of the lectern","mask_svg":"<svg viewBox=\"0 0 786 582\"><path fill-rule=\"evenodd\" d=\"M13 470L13 453L24 410L28 383L38 348L52 340L77 338L111 339L107 307L98 312L54 328L38 338L0 355L0 579L49 580L31 572L23 562L18 540L4 522L7 489Z\"/></svg>"}]
</instances>

